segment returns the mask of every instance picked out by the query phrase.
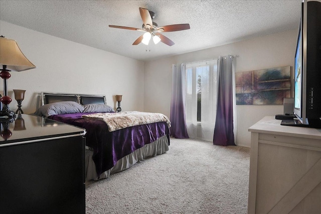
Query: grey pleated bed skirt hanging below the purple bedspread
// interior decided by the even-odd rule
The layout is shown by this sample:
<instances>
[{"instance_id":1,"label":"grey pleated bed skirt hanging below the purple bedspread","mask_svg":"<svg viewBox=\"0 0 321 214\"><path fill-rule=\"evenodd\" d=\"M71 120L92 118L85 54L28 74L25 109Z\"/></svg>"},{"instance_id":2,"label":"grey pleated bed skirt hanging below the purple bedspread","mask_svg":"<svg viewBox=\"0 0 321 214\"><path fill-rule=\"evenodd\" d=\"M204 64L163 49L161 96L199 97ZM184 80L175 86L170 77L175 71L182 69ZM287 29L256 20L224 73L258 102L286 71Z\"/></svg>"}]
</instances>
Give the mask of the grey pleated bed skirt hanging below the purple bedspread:
<instances>
[{"instance_id":1,"label":"grey pleated bed skirt hanging below the purple bedspread","mask_svg":"<svg viewBox=\"0 0 321 214\"><path fill-rule=\"evenodd\" d=\"M135 150L131 154L126 155L117 161L117 163L107 171L97 174L95 163L92 159L93 151L90 149L85 150L85 169L86 180L98 180L109 177L111 174L123 171L130 168L137 162L143 161L148 157L154 157L163 154L169 150L168 136L158 138L152 143L146 144L143 147Z\"/></svg>"}]
</instances>

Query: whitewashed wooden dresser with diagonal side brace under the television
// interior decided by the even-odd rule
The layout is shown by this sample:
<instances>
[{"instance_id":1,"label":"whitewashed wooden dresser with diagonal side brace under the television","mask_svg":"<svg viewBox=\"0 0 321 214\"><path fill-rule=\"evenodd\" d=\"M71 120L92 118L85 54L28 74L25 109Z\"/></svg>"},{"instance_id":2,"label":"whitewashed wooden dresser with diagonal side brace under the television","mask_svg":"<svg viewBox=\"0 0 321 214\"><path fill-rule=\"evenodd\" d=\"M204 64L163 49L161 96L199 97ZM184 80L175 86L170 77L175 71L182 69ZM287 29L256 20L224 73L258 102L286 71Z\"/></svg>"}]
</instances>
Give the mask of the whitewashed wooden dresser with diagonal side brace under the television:
<instances>
[{"instance_id":1,"label":"whitewashed wooden dresser with diagonal side brace under the television","mask_svg":"<svg viewBox=\"0 0 321 214\"><path fill-rule=\"evenodd\" d=\"M266 116L251 132L248 213L321 213L321 129Z\"/></svg>"}]
</instances>

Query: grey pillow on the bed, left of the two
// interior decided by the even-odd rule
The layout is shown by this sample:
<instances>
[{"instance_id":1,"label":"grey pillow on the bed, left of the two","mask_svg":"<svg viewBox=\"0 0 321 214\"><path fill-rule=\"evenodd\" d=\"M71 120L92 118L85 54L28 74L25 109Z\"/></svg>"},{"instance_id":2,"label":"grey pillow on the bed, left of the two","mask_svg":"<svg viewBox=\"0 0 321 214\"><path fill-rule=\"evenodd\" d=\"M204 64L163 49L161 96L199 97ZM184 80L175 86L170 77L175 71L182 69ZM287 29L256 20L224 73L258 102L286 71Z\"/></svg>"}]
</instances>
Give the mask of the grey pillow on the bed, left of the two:
<instances>
[{"instance_id":1,"label":"grey pillow on the bed, left of the two","mask_svg":"<svg viewBox=\"0 0 321 214\"><path fill-rule=\"evenodd\" d=\"M49 117L50 115L56 114L80 113L83 110L84 107L74 101L63 101L40 106L35 114L38 116Z\"/></svg>"}]
</instances>

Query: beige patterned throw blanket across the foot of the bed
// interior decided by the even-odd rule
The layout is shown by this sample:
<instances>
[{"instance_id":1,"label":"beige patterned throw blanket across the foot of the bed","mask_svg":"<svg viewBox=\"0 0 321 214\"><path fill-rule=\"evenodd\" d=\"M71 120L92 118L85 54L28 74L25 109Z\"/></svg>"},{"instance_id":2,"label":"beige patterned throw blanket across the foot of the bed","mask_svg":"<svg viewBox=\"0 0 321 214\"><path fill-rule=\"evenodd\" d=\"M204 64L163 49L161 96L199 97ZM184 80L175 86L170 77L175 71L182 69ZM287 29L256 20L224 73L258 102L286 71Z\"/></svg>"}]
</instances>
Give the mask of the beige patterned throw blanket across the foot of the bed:
<instances>
[{"instance_id":1,"label":"beige patterned throw blanket across the foot of the bed","mask_svg":"<svg viewBox=\"0 0 321 214\"><path fill-rule=\"evenodd\" d=\"M161 113L148 113L139 111L127 111L117 113L95 113L82 115L86 119L95 119L104 121L109 131L115 131L130 126L166 122L171 127L171 122L167 116Z\"/></svg>"}]
</instances>

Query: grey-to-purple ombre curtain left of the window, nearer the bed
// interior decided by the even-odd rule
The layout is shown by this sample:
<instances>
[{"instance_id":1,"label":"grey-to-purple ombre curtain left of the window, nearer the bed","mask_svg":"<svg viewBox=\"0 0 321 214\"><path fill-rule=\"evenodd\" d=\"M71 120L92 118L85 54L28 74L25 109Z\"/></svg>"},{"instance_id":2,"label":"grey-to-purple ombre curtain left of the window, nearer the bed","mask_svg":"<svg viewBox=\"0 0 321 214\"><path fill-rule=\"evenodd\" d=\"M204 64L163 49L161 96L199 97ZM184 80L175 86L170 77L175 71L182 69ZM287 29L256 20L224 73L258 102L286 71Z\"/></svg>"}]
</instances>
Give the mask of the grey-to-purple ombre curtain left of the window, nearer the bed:
<instances>
[{"instance_id":1,"label":"grey-to-purple ombre curtain left of the window, nearer the bed","mask_svg":"<svg viewBox=\"0 0 321 214\"><path fill-rule=\"evenodd\" d=\"M185 113L185 64L172 66L171 136L189 138Z\"/></svg>"}]
</instances>

